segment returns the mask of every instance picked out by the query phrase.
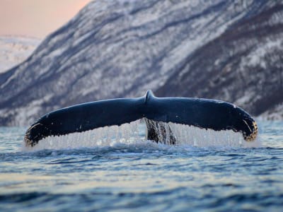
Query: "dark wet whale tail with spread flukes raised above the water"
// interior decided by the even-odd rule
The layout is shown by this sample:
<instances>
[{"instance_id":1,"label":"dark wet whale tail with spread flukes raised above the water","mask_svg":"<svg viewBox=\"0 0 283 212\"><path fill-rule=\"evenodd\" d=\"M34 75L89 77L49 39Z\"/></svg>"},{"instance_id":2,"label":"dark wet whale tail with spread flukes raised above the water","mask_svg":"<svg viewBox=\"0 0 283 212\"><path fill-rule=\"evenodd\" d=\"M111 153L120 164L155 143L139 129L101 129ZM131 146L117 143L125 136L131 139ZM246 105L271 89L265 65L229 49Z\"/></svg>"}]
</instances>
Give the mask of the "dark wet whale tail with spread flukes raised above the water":
<instances>
[{"instance_id":1,"label":"dark wet whale tail with spread flukes raised above the water","mask_svg":"<svg viewBox=\"0 0 283 212\"><path fill-rule=\"evenodd\" d=\"M121 98L87 102L45 114L25 133L25 146L35 146L48 136L62 136L103 126L134 122L145 118L147 138L159 141L154 123L175 123L214 131L241 132L246 141L254 141L258 127L250 115L229 102L199 98L156 98L151 90L141 98ZM162 125L162 124L161 124ZM163 131L175 143L171 129ZM162 136L161 136L162 137ZM164 137L164 136L163 136Z\"/></svg>"}]
</instances>

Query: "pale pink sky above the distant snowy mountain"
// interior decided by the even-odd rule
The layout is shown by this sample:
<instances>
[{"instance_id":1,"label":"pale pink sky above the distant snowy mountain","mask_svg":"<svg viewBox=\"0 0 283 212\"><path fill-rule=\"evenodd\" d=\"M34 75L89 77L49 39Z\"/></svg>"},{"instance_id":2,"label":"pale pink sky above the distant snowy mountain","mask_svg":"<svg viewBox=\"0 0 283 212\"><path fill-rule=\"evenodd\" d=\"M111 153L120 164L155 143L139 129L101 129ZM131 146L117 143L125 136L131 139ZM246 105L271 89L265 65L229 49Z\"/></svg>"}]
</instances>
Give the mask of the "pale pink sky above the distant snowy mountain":
<instances>
[{"instance_id":1,"label":"pale pink sky above the distant snowy mountain","mask_svg":"<svg viewBox=\"0 0 283 212\"><path fill-rule=\"evenodd\" d=\"M0 35L44 38L91 0L0 0Z\"/></svg>"}]
</instances>

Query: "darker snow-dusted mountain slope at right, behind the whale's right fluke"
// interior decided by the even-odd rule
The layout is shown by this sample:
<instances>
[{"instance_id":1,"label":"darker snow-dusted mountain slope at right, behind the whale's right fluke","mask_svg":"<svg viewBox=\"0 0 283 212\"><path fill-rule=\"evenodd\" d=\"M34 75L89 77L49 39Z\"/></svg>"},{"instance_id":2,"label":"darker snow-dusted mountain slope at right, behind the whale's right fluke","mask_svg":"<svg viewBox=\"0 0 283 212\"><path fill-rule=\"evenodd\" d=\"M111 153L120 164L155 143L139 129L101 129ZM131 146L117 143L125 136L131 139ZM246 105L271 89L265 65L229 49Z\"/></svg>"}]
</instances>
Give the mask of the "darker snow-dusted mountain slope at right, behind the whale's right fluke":
<instances>
[{"instance_id":1,"label":"darker snow-dusted mountain slope at right, behind the whale's right fluke","mask_svg":"<svg viewBox=\"0 0 283 212\"><path fill-rule=\"evenodd\" d=\"M157 93L226 100L277 118L273 112L283 106L283 5L233 25L197 49Z\"/></svg>"}]
</instances>

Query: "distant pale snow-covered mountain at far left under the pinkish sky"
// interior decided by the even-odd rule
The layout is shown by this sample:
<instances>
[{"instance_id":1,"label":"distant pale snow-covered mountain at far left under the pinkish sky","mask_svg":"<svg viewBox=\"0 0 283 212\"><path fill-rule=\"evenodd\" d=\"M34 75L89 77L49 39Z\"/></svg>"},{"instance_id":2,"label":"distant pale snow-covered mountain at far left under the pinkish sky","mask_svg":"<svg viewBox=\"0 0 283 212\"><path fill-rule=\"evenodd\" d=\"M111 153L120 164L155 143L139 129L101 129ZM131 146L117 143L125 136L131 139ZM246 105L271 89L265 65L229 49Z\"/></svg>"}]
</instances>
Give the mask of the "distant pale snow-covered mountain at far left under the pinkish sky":
<instances>
[{"instance_id":1,"label":"distant pale snow-covered mountain at far left under the pinkish sky","mask_svg":"<svg viewBox=\"0 0 283 212\"><path fill-rule=\"evenodd\" d=\"M0 36L0 73L27 59L39 44L34 37Z\"/></svg>"}]
</instances>

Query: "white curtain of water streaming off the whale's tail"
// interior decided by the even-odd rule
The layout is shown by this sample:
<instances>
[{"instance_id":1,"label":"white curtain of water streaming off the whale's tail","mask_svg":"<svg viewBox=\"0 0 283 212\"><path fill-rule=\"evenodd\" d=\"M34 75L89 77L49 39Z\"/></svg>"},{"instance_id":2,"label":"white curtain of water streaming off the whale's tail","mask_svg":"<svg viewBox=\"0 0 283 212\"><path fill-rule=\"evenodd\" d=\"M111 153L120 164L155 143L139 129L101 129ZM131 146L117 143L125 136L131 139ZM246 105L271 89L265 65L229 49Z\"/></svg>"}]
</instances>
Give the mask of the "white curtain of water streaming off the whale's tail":
<instances>
[{"instance_id":1,"label":"white curtain of water streaming off the whale's tail","mask_svg":"<svg viewBox=\"0 0 283 212\"><path fill-rule=\"evenodd\" d=\"M172 122L157 122L155 130L158 142L170 144L170 136L174 136L176 146L197 146L221 148L260 147L260 140L247 142L241 132L232 130L214 131L200 129L196 126L175 124ZM24 151L39 151L43 149L93 148L98 146L140 145L145 142L146 125L142 120L122 124L120 126L105 126L90 131L67 134L64 136L49 136L42 139L36 146L23 146ZM154 141L151 141L154 142ZM146 141L146 143L148 143Z\"/></svg>"}]
</instances>

